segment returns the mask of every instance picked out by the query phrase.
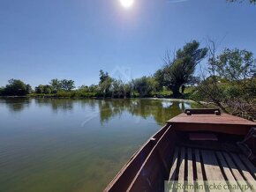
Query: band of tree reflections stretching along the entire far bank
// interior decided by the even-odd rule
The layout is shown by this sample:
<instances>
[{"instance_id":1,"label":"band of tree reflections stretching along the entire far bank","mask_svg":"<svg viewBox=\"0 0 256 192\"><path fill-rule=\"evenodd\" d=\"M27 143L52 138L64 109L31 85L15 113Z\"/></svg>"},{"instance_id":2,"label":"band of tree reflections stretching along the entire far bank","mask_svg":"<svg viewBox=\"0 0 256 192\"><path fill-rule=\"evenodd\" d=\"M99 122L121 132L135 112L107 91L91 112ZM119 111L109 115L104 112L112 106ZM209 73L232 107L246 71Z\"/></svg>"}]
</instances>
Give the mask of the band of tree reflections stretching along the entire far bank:
<instances>
[{"instance_id":1,"label":"band of tree reflections stretching along the entire far bank","mask_svg":"<svg viewBox=\"0 0 256 192\"><path fill-rule=\"evenodd\" d=\"M85 116L88 122L99 116L103 124L111 118L128 112L129 114L147 119L153 117L154 120L162 125L169 118L180 114L185 108L196 107L196 104L184 100L150 100L150 99L127 99L127 100L70 100L70 99L27 99L11 98L1 99L9 108L11 113L18 113L29 107L34 101L37 107L50 107L54 113L58 111L69 112L74 110L74 105L79 105L82 109L90 107L92 113ZM76 107L75 107L76 108Z\"/></svg>"}]
</instances>

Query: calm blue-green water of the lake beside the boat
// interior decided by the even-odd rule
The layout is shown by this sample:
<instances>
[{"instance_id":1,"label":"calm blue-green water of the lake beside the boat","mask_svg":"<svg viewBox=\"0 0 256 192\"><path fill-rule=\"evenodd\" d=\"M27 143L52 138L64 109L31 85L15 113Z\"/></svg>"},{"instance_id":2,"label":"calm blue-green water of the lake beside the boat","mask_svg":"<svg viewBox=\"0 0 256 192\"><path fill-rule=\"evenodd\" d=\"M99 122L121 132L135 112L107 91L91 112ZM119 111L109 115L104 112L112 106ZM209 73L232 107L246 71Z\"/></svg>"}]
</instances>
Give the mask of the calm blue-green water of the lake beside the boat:
<instances>
[{"instance_id":1,"label":"calm blue-green water of the lake beside the boat","mask_svg":"<svg viewBox=\"0 0 256 192\"><path fill-rule=\"evenodd\" d=\"M0 99L0 191L102 191L190 102Z\"/></svg>"}]
</instances>

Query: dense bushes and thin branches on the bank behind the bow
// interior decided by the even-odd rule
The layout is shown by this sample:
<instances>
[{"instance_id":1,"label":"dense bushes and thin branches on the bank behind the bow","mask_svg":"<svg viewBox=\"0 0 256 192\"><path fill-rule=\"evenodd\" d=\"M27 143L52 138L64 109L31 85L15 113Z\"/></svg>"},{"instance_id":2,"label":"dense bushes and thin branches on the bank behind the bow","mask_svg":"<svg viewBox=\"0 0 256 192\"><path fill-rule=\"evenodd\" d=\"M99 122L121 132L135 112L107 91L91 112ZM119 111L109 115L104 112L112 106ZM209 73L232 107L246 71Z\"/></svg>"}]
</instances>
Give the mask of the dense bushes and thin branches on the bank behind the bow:
<instances>
[{"instance_id":1,"label":"dense bushes and thin branches on the bank behind the bow","mask_svg":"<svg viewBox=\"0 0 256 192\"><path fill-rule=\"evenodd\" d=\"M207 66L209 76L201 79L192 98L256 119L256 60L252 52L226 48L220 55L210 55Z\"/></svg>"}]
</instances>

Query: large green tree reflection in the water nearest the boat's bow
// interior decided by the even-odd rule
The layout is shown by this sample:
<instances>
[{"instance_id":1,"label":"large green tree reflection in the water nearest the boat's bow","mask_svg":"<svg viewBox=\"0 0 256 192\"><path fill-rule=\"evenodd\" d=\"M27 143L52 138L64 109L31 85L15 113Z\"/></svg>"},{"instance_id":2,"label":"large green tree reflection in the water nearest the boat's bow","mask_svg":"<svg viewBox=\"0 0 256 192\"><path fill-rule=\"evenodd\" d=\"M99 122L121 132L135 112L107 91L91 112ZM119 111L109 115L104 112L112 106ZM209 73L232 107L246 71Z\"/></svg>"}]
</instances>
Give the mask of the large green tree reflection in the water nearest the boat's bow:
<instances>
[{"instance_id":1,"label":"large green tree reflection in the water nearest the boat's bow","mask_svg":"<svg viewBox=\"0 0 256 192\"><path fill-rule=\"evenodd\" d=\"M101 100L99 112L101 122L108 122L115 115L121 115L124 111L144 119L153 117L162 125L171 117L181 114L185 108L197 107L195 103L175 100Z\"/></svg>"}]
</instances>

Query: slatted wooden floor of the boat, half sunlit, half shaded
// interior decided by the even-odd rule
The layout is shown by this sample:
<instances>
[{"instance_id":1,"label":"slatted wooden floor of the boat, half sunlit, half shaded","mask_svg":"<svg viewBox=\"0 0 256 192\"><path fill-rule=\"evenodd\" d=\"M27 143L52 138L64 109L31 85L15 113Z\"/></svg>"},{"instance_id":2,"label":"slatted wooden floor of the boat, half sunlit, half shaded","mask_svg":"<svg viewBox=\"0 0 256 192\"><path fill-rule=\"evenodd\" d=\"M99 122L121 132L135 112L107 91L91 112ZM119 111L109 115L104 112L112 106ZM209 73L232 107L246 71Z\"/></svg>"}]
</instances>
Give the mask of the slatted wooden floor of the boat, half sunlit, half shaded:
<instances>
[{"instance_id":1,"label":"slatted wooden floor of the boat, half sunlit, half shaded","mask_svg":"<svg viewBox=\"0 0 256 192\"><path fill-rule=\"evenodd\" d=\"M169 181L248 181L256 179L256 167L244 154L177 146Z\"/></svg>"}]
</instances>

